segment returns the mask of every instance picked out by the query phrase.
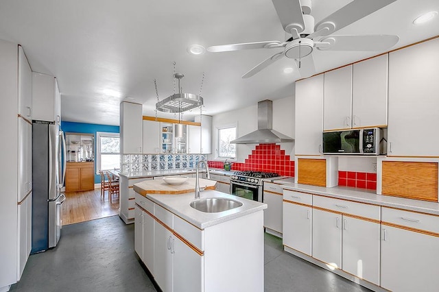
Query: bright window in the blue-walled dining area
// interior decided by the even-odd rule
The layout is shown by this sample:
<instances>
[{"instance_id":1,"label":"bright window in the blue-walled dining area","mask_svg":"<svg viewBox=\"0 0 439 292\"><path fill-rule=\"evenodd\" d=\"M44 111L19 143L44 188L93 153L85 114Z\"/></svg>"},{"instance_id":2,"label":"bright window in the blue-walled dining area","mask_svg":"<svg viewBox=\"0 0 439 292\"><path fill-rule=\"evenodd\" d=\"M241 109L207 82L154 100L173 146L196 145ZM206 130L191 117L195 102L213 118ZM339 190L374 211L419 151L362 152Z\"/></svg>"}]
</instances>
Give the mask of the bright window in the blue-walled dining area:
<instances>
[{"instance_id":1,"label":"bright window in the blue-walled dining area","mask_svg":"<svg viewBox=\"0 0 439 292\"><path fill-rule=\"evenodd\" d=\"M119 133L96 132L96 170L120 169Z\"/></svg>"}]
</instances>

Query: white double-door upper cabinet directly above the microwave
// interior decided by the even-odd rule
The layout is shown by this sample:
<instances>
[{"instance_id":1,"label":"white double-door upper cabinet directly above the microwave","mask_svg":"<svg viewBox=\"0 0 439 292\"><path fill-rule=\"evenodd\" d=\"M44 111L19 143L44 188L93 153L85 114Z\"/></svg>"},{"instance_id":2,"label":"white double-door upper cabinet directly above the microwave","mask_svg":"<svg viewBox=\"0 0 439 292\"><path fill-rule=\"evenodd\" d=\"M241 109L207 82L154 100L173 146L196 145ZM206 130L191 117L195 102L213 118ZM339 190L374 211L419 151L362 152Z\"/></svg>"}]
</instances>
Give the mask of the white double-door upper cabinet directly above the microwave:
<instances>
[{"instance_id":1,"label":"white double-door upper cabinet directly above the microwave","mask_svg":"<svg viewBox=\"0 0 439 292\"><path fill-rule=\"evenodd\" d=\"M324 130L386 127L388 54L324 73Z\"/></svg>"}]
</instances>

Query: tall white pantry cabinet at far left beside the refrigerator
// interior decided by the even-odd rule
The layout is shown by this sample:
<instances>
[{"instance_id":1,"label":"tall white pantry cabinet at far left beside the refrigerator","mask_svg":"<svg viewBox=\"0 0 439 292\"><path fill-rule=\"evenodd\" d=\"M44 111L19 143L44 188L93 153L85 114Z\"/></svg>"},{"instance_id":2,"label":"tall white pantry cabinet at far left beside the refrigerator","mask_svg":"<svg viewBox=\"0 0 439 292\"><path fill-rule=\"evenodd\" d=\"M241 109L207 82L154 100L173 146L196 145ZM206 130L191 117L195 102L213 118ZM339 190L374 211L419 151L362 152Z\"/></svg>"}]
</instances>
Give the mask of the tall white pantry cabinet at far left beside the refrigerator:
<instances>
[{"instance_id":1,"label":"tall white pantry cabinet at far left beside the refrigerator","mask_svg":"<svg viewBox=\"0 0 439 292\"><path fill-rule=\"evenodd\" d=\"M30 253L32 215L32 71L23 49L5 40L0 40L0 88L3 291L21 278Z\"/></svg>"}]
</instances>

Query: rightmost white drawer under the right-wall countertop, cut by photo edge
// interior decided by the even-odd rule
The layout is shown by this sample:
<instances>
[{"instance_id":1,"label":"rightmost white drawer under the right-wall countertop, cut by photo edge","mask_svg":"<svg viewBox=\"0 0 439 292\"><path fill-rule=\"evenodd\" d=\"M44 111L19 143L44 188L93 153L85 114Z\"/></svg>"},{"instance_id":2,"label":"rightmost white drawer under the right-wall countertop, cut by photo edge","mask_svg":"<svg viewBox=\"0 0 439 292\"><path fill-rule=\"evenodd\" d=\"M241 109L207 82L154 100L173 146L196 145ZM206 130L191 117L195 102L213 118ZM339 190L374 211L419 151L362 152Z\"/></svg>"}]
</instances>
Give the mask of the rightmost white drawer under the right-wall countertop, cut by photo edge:
<instances>
[{"instance_id":1,"label":"rightmost white drawer under the right-wall countertop, cut by photo edge","mask_svg":"<svg viewBox=\"0 0 439 292\"><path fill-rule=\"evenodd\" d=\"M439 217L434 215L383 207L381 221L439 234Z\"/></svg>"}]
</instances>

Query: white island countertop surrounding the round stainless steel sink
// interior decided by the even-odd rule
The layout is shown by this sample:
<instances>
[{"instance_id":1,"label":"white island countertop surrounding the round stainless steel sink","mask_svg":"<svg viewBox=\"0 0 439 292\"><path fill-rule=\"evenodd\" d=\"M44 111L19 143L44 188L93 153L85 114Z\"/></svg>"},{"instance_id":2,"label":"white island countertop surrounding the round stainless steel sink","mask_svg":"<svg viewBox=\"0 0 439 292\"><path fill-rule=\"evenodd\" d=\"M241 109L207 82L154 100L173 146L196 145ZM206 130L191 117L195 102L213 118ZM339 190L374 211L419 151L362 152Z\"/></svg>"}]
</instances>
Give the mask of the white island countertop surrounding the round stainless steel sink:
<instances>
[{"instance_id":1,"label":"white island countertop surrounding the round stainless steel sink","mask_svg":"<svg viewBox=\"0 0 439 292\"><path fill-rule=\"evenodd\" d=\"M189 223L193 224L193 226L196 226L200 229L214 226L219 223L223 223L225 221L229 221L267 208L267 204L211 190L202 191L200 193L200 198L203 199L206 197L226 197L228 199L233 199L235 201L241 202L243 203L243 205L241 207L227 210L224 212L206 213L195 210L194 208L189 206L189 203L195 199L194 193L186 193L182 195L147 194L146 197L151 199L154 203L162 206L163 208L166 208L167 210L173 212L175 215L178 215L178 217L185 219Z\"/></svg>"}]
</instances>

